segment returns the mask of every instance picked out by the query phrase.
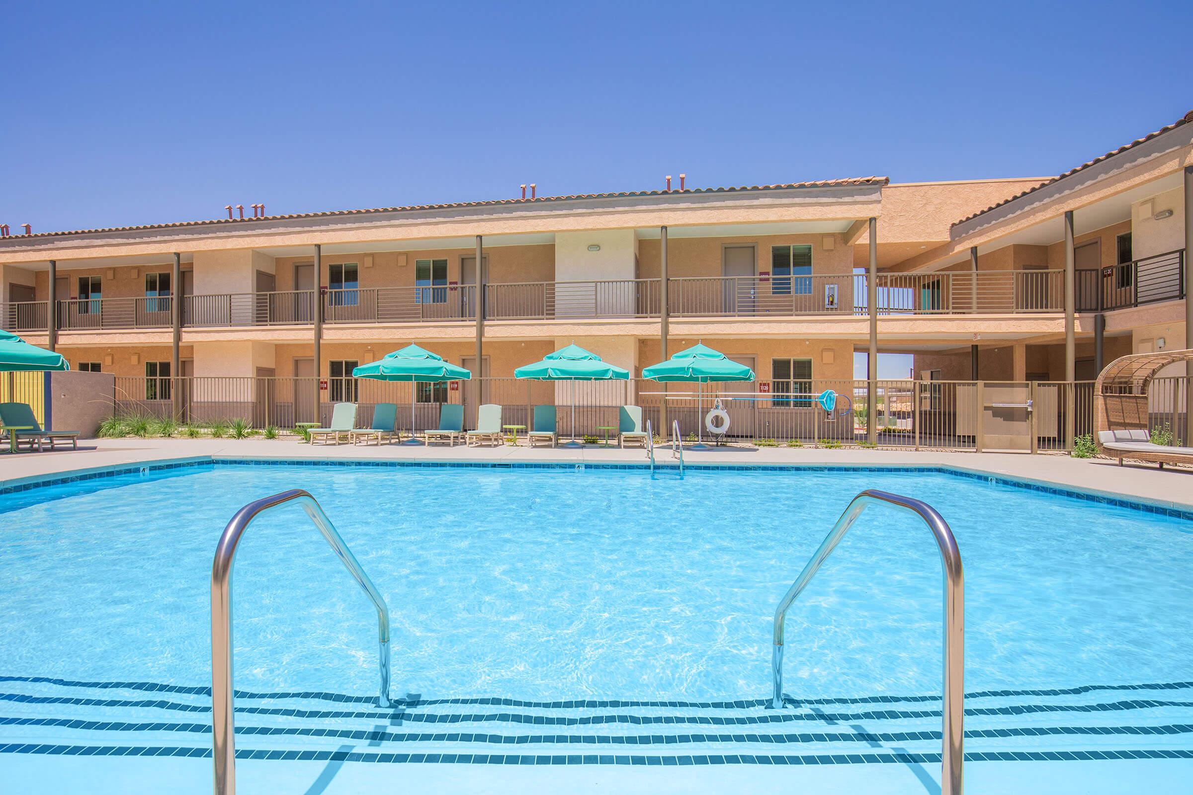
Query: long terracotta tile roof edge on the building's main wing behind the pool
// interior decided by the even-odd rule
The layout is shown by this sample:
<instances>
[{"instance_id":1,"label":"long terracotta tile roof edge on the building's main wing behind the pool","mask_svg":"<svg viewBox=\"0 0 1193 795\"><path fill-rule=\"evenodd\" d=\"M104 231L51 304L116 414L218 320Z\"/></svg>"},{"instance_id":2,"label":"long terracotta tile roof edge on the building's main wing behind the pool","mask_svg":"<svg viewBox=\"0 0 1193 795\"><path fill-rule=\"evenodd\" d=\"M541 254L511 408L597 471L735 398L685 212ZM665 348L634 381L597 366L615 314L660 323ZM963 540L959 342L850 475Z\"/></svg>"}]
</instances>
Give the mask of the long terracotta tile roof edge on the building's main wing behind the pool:
<instances>
[{"instance_id":1,"label":"long terracotta tile roof edge on the building's main wing behind the pool","mask_svg":"<svg viewBox=\"0 0 1193 795\"><path fill-rule=\"evenodd\" d=\"M841 180L817 180L810 182L785 182L777 185L743 185L738 187L707 187L687 188L684 191L623 191L619 193L574 193L571 195L540 195L533 199L494 199L488 201L456 201L452 204L413 204L403 207L372 207L365 210L333 210L329 212L299 212L284 216L265 216L258 218L212 218L209 221L179 221L168 224L144 224L141 226L106 226L103 229L74 229L57 232L35 232L32 235L10 235L0 238L4 241L24 241L32 238L62 237L66 235L93 235L99 232L125 232L141 231L147 229L181 229L187 226L214 226L220 224L252 224L270 221L292 221L297 218L332 218L338 216L364 216L379 212L408 212L416 210L455 210L460 207L488 207L514 204L550 204L555 201L569 201L575 199L618 199L632 197L659 197L673 194L705 194L705 193L737 193L742 191L781 191L790 188L815 188L815 187L848 187L874 185L883 187L890 182L886 176L857 176Z\"/></svg>"}]
</instances>

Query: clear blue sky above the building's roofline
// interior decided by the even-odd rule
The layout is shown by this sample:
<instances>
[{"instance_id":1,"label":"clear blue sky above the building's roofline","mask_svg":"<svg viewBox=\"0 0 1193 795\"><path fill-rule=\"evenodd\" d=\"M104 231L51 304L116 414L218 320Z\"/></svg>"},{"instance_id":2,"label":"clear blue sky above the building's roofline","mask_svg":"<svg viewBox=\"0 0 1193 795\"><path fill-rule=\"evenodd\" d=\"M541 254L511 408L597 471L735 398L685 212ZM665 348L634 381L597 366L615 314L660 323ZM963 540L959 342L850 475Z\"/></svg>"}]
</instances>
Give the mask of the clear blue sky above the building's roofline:
<instances>
[{"instance_id":1,"label":"clear blue sky above the building's roofline","mask_svg":"<svg viewBox=\"0 0 1193 795\"><path fill-rule=\"evenodd\" d=\"M1034 176L1193 107L1193 4L1063 5L10 4L0 223Z\"/></svg>"}]
</instances>

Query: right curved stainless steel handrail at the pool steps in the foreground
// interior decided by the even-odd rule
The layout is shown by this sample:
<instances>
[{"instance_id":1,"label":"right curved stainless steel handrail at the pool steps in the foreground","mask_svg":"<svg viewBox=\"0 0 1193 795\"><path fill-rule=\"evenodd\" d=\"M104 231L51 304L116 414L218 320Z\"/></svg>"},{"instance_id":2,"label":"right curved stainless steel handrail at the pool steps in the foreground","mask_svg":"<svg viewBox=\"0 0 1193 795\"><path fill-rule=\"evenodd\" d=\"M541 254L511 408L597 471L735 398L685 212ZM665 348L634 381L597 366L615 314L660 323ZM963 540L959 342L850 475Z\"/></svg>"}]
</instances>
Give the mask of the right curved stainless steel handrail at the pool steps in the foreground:
<instances>
[{"instance_id":1,"label":"right curved stainless steel handrail at the pool steps in the foreground","mask_svg":"<svg viewBox=\"0 0 1193 795\"><path fill-rule=\"evenodd\" d=\"M941 727L944 747L940 760L940 791L941 795L962 795L965 741L965 576L962 570L962 555L957 549L957 539L953 538L944 517L926 502L874 489L863 491L849 502L849 507L836 520L832 532L821 542L816 554L811 557L804 570L799 572L799 578L774 611L774 651L772 657L774 691L771 706L774 709L784 707L783 625L787 608L816 576L821 565L836 548L861 511L873 503L886 503L916 514L932 530L937 547L940 549L945 580L945 703L944 726Z\"/></svg>"}]
</instances>

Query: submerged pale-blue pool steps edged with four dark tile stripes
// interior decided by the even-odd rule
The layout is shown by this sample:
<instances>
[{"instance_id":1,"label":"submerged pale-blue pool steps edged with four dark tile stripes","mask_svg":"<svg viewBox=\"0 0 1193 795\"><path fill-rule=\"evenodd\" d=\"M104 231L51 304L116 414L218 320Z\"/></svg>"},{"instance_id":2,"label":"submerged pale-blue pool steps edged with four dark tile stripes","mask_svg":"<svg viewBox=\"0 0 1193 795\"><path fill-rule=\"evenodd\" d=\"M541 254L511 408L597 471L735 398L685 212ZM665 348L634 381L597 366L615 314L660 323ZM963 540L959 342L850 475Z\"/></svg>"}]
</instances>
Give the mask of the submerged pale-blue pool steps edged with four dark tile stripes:
<instances>
[{"instance_id":1,"label":"submerged pale-blue pool steps edged with four dark tile stripes","mask_svg":"<svg viewBox=\"0 0 1193 795\"><path fill-rule=\"evenodd\" d=\"M5 752L57 746L76 753L118 747L200 754L210 751L210 696L200 687L0 678ZM1193 734L1193 683L975 692L966 697L965 728L971 754L1179 752ZM939 759L940 701L789 698L786 709L774 710L764 698L414 697L379 709L365 695L246 691L236 701L236 743L245 754L314 753L310 758L347 750L487 759L629 754L649 757L648 764L710 754L740 762L795 756L849 763L848 757L867 762L892 753Z\"/></svg>"}]
</instances>

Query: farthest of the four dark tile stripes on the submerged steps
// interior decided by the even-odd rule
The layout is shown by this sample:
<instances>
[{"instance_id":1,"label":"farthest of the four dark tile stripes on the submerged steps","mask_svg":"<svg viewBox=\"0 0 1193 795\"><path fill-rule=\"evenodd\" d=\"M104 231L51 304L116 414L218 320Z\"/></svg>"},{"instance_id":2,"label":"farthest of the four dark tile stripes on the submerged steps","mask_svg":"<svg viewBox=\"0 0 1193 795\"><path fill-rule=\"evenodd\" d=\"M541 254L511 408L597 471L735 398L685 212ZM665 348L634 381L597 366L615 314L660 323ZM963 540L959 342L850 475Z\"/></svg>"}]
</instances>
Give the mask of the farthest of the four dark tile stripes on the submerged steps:
<instances>
[{"instance_id":1,"label":"farthest of the four dark tile stripes on the submerged steps","mask_svg":"<svg viewBox=\"0 0 1193 795\"><path fill-rule=\"evenodd\" d=\"M165 682L87 682L80 679L60 679L45 676L0 676L0 682L26 682L30 684L52 684L61 688L91 688L97 690L143 690L148 692L171 692L191 696L210 696L211 688L204 685L166 684ZM1016 696L1080 696L1099 690L1187 690L1193 682L1152 682L1145 684L1083 684L1071 688L1050 688L1036 690L976 690L966 692L966 698L1012 698ZM371 704L376 696L360 696L346 692L327 692L323 690L282 690L258 692L254 690L236 690L237 698L302 698L333 701L338 703ZM828 704L888 704L940 701L940 695L917 696L859 696L854 698L797 698L784 695L784 701L793 707ZM440 707L440 706L490 706L521 707L527 709L617 709L628 707L669 707L692 709L752 709L771 703L769 698L744 698L736 701L635 701L624 698L595 700L574 698L567 701L521 701L497 696L477 696L471 698L394 698L400 707Z\"/></svg>"}]
</instances>

